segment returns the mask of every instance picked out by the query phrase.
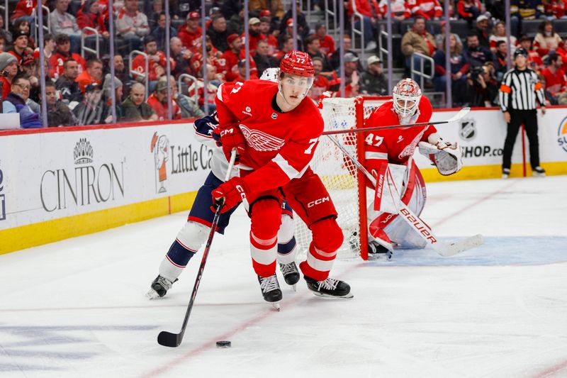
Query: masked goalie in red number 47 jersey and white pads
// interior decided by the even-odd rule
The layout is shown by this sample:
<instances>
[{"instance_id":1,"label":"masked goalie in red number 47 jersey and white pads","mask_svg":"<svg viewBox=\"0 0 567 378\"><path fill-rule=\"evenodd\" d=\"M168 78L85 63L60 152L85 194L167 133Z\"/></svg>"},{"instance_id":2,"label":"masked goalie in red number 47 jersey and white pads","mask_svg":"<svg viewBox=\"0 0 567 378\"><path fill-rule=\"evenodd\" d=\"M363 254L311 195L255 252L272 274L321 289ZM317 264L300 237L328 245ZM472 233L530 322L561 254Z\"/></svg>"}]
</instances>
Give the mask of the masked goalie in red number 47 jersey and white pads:
<instances>
[{"instance_id":1,"label":"masked goalie in red number 47 jersey and white pads","mask_svg":"<svg viewBox=\"0 0 567 378\"><path fill-rule=\"evenodd\" d=\"M365 126L429 122L431 116L430 101L422 96L417 83L412 79L403 79L393 89L393 100L375 109ZM420 170L412 160L415 149L419 146L422 155L429 157L441 174L454 174L462 167L459 145L445 142L432 125L367 131L364 138L366 169L378 181L386 177L388 166L391 172L398 172L402 182L400 199L417 215L425 205L426 191ZM405 169L399 169L400 165ZM373 202L368 209L369 252L391 252L394 245L402 248L425 247L425 240L403 218L397 213L380 211L377 202Z\"/></svg>"}]
</instances>

